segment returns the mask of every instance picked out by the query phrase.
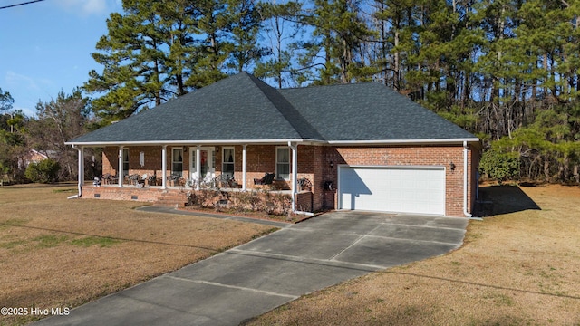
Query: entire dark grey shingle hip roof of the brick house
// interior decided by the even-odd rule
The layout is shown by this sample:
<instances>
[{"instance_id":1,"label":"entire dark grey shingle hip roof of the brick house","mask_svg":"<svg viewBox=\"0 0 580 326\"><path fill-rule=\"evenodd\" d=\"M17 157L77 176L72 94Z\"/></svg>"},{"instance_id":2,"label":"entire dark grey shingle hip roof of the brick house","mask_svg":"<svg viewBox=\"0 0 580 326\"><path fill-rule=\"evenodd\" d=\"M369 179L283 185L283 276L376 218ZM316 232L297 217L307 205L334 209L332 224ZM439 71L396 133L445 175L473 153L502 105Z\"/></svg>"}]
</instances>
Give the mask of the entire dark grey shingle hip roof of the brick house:
<instances>
[{"instance_id":1,"label":"entire dark grey shingle hip roof of the brick house","mask_svg":"<svg viewBox=\"0 0 580 326\"><path fill-rule=\"evenodd\" d=\"M276 90L246 72L70 144L475 139L381 83Z\"/></svg>"}]
</instances>

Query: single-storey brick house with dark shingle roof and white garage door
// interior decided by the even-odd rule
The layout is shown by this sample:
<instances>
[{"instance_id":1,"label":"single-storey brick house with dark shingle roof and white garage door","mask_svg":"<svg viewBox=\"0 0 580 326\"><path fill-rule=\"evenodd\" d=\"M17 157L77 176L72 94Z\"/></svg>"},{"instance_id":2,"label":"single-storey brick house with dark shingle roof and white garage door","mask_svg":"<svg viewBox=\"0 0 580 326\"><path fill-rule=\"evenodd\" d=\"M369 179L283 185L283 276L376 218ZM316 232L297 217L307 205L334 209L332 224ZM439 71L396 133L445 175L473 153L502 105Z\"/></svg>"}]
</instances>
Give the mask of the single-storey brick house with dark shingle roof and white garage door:
<instances>
[{"instance_id":1,"label":"single-storey brick house with dark shingle roof and white garage door","mask_svg":"<svg viewBox=\"0 0 580 326\"><path fill-rule=\"evenodd\" d=\"M160 189L175 186L170 175L190 187L227 176L249 191L274 173L295 210L445 216L470 216L480 149L468 131L378 82L278 90L245 72L67 144L80 169L82 149L101 147L103 174L156 176ZM304 179L311 187L298 186Z\"/></svg>"}]
</instances>

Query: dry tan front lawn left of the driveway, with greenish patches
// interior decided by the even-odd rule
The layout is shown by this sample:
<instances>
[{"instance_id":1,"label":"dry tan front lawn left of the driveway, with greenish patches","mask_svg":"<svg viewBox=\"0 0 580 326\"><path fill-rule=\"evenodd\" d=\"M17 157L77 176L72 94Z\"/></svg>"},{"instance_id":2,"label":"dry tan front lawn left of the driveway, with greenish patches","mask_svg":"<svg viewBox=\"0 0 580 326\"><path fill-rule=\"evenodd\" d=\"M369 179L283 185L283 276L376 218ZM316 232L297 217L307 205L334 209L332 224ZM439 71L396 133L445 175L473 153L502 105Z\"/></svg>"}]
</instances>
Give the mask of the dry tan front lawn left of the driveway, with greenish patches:
<instances>
[{"instance_id":1,"label":"dry tan front lawn left of the driveway, with greenish patches","mask_svg":"<svg viewBox=\"0 0 580 326\"><path fill-rule=\"evenodd\" d=\"M275 229L75 199L74 187L0 187L0 306L73 308ZM25 273L23 273L25 271ZM19 325L30 316L0 316Z\"/></svg>"}]
</instances>

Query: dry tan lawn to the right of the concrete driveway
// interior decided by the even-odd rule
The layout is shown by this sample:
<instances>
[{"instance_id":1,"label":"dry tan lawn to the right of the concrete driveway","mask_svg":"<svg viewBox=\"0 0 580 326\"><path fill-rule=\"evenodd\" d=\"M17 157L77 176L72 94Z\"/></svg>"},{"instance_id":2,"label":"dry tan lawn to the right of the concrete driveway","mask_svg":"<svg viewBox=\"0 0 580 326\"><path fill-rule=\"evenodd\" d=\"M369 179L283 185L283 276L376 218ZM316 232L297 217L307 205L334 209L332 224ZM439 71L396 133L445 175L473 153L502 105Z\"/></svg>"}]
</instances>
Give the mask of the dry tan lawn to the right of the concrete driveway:
<instances>
[{"instance_id":1,"label":"dry tan lawn to the right of the concrete driveway","mask_svg":"<svg viewBox=\"0 0 580 326\"><path fill-rule=\"evenodd\" d=\"M580 325L580 188L484 187L464 245L314 292L248 325Z\"/></svg>"}]
</instances>

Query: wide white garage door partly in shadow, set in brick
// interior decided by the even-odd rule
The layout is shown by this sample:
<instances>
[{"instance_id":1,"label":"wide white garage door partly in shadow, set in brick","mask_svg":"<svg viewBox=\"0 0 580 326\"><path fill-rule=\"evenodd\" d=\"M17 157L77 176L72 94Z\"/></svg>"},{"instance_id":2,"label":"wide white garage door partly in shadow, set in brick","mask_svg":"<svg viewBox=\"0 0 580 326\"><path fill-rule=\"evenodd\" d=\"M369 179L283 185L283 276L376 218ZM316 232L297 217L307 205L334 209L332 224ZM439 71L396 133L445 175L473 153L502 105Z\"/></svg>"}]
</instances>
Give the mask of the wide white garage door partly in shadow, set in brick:
<instances>
[{"instance_id":1,"label":"wide white garage door partly in shadow, set in brick","mask_svg":"<svg viewBox=\"0 0 580 326\"><path fill-rule=\"evenodd\" d=\"M339 207L445 215L445 168L340 167Z\"/></svg>"}]
</instances>

